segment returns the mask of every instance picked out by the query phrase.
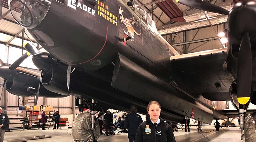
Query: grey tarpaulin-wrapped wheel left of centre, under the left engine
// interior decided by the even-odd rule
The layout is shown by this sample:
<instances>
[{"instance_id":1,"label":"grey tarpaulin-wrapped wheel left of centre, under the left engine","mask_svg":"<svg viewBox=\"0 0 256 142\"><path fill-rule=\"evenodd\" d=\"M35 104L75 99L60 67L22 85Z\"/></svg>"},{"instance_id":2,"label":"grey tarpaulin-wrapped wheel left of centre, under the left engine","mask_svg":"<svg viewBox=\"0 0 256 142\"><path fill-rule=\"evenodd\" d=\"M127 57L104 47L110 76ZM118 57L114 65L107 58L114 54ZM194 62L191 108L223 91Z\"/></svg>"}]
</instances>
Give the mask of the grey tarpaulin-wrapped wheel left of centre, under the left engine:
<instances>
[{"instance_id":1,"label":"grey tarpaulin-wrapped wheel left of centre, under the left engine","mask_svg":"<svg viewBox=\"0 0 256 142\"><path fill-rule=\"evenodd\" d=\"M79 114L72 124L73 142L93 142L93 135L90 130L91 126L91 114ZM93 134L97 140L100 137L100 126L98 120L94 123L94 128Z\"/></svg>"}]
</instances>

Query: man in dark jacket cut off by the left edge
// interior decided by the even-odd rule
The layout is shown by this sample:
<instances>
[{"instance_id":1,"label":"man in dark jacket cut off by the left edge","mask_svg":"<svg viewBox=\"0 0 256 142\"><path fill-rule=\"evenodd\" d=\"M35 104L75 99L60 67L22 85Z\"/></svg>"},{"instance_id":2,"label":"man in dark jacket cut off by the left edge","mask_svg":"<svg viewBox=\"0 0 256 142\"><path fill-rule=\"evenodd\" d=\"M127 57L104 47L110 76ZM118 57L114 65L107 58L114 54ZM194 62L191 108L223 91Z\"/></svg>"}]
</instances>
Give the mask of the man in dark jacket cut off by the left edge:
<instances>
[{"instance_id":1,"label":"man in dark jacket cut off by the left edge","mask_svg":"<svg viewBox=\"0 0 256 142\"><path fill-rule=\"evenodd\" d=\"M5 129L9 129L9 123L9 117L6 113L2 112L2 108L0 107L0 142L4 141Z\"/></svg>"}]
</instances>

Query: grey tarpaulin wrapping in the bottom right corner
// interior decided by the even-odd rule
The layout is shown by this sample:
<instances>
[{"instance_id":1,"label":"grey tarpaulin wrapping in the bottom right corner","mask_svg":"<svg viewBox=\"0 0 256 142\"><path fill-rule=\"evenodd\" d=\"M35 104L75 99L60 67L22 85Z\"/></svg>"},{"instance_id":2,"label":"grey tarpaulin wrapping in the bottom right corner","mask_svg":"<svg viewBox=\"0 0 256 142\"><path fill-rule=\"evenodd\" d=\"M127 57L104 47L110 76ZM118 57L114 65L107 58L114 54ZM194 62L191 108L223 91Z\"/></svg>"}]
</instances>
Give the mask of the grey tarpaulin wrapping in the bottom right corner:
<instances>
[{"instance_id":1,"label":"grey tarpaulin wrapping in the bottom right corner","mask_svg":"<svg viewBox=\"0 0 256 142\"><path fill-rule=\"evenodd\" d=\"M243 142L255 142L256 141L256 113L249 114L244 123L244 130L242 132Z\"/></svg>"}]
</instances>

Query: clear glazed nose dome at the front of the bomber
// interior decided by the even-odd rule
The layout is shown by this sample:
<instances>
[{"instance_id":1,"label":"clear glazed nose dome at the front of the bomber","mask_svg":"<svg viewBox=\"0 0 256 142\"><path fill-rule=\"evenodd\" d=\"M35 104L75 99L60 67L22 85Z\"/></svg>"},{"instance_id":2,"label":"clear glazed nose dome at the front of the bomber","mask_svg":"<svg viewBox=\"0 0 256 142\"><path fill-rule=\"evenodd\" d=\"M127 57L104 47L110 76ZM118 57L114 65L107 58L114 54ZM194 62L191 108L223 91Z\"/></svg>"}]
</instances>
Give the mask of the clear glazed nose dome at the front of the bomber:
<instances>
[{"instance_id":1,"label":"clear glazed nose dome at the front of the bomber","mask_svg":"<svg viewBox=\"0 0 256 142\"><path fill-rule=\"evenodd\" d=\"M31 29L41 23L47 14L52 0L9 0L13 18L23 27Z\"/></svg>"}]
</instances>

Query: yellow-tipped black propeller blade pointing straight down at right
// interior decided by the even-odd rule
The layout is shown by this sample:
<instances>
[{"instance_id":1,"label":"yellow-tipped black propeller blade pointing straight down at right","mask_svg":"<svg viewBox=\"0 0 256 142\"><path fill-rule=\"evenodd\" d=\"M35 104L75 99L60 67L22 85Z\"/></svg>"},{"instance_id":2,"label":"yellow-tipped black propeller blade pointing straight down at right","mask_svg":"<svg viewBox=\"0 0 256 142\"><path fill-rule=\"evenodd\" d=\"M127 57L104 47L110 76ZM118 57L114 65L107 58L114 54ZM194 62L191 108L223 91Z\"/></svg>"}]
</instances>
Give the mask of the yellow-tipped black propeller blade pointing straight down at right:
<instances>
[{"instance_id":1,"label":"yellow-tipped black propeller blade pointing straight down at right","mask_svg":"<svg viewBox=\"0 0 256 142\"><path fill-rule=\"evenodd\" d=\"M237 100L246 104L251 96L252 86L252 49L250 36L245 32L238 52L237 63Z\"/></svg>"}]
</instances>

